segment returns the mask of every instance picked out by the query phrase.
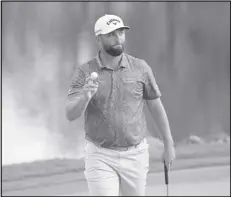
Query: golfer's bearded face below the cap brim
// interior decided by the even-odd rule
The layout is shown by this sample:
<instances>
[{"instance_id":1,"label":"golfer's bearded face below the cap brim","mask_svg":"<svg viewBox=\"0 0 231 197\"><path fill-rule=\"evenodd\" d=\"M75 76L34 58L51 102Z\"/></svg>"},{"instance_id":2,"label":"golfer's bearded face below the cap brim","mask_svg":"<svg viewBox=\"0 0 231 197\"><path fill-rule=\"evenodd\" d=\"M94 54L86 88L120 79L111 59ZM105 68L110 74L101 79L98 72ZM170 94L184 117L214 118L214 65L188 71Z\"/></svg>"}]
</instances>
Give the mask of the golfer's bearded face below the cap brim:
<instances>
[{"instance_id":1,"label":"golfer's bearded face below the cap brim","mask_svg":"<svg viewBox=\"0 0 231 197\"><path fill-rule=\"evenodd\" d=\"M100 35L101 46L112 56L119 56L124 51L125 30L116 29L105 35Z\"/></svg>"}]
</instances>

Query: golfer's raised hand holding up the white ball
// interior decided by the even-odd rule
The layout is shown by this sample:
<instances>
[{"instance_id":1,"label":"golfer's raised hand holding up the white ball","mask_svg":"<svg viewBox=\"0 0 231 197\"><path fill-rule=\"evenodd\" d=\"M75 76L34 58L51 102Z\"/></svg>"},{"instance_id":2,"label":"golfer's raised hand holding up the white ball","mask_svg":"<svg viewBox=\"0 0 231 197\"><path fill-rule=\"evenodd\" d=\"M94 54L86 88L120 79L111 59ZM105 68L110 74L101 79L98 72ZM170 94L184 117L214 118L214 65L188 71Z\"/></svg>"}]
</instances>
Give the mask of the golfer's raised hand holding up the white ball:
<instances>
[{"instance_id":1,"label":"golfer's raised hand holding up the white ball","mask_svg":"<svg viewBox=\"0 0 231 197\"><path fill-rule=\"evenodd\" d=\"M87 96L88 99L91 99L97 92L99 87L98 82L93 81L91 77L86 78L85 85L82 88L82 91Z\"/></svg>"}]
</instances>

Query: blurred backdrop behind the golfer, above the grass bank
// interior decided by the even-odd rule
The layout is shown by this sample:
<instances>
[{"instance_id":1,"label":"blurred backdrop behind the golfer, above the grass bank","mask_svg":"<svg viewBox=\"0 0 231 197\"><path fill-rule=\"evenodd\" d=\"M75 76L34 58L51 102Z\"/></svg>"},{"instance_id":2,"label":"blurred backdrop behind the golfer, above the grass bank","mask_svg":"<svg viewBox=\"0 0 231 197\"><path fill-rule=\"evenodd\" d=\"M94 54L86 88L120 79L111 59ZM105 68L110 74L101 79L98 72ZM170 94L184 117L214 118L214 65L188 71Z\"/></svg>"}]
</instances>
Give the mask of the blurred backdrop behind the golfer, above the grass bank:
<instances>
[{"instance_id":1,"label":"blurred backdrop behind the golfer, above the grass bank","mask_svg":"<svg viewBox=\"0 0 231 197\"><path fill-rule=\"evenodd\" d=\"M82 157L83 117L69 122L64 104L104 14L131 27L126 52L152 67L176 142L230 135L228 2L3 2L3 165Z\"/></svg>"}]
</instances>

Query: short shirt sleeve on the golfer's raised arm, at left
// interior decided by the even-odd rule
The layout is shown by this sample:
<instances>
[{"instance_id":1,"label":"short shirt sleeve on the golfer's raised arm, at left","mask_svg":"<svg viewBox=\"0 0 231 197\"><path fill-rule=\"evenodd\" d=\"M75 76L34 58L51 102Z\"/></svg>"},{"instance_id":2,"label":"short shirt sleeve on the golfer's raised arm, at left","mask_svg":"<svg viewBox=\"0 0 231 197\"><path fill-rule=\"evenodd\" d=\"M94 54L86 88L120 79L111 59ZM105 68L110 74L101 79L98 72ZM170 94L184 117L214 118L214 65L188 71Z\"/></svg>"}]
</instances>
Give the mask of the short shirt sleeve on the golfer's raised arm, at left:
<instances>
[{"instance_id":1,"label":"short shirt sleeve on the golfer's raised arm, at left","mask_svg":"<svg viewBox=\"0 0 231 197\"><path fill-rule=\"evenodd\" d=\"M80 66L76 66L71 78L67 99L72 99L82 94L82 87L85 84L86 74Z\"/></svg>"}]
</instances>

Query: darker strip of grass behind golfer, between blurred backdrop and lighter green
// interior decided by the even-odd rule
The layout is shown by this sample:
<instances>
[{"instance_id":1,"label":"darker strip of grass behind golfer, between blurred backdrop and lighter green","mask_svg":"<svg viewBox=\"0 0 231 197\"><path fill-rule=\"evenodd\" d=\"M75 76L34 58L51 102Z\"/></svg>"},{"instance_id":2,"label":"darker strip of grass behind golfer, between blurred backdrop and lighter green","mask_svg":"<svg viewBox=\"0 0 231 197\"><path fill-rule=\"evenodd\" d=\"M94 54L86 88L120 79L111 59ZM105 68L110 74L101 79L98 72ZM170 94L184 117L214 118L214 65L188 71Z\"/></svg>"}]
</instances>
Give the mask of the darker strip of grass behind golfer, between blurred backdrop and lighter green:
<instances>
[{"instance_id":1,"label":"darker strip of grass behind golfer, between blurred backdrop and lighter green","mask_svg":"<svg viewBox=\"0 0 231 197\"><path fill-rule=\"evenodd\" d=\"M160 162L162 149L158 149L151 145L149 150L150 171L162 170L162 163ZM219 158L223 159L219 160ZM172 165L172 169L201 165L221 165L222 163L227 164L229 162L229 144L179 145L176 147L176 160ZM2 180L20 180L36 176L48 177L57 174L79 172L83 169L83 160L76 159L53 159L33 163L7 165L2 168Z\"/></svg>"}]
</instances>

